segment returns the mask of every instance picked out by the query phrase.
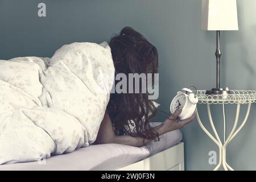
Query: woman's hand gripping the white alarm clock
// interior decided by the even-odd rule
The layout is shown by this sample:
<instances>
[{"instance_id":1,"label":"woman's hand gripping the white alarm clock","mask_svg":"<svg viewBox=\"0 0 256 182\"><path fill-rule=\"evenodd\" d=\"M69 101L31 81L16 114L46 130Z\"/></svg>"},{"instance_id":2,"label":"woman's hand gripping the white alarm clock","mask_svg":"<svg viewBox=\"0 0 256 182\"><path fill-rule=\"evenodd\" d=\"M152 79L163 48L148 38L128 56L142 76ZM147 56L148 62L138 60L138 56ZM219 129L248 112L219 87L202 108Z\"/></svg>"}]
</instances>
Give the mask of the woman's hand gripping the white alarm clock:
<instances>
[{"instance_id":1,"label":"woman's hand gripping the white alarm clock","mask_svg":"<svg viewBox=\"0 0 256 182\"><path fill-rule=\"evenodd\" d=\"M170 117L168 117L166 121L163 122L163 125L161 127L162 132L160 132L161 135L184 127L188 123L192 122L193 119L195 119L196 117L196 110L195 110L195 112L191 117L184 120L179 120L179 115L181 111L182 109L177 109L174 114L170 115Z\"/></svg>"}]
</instances>

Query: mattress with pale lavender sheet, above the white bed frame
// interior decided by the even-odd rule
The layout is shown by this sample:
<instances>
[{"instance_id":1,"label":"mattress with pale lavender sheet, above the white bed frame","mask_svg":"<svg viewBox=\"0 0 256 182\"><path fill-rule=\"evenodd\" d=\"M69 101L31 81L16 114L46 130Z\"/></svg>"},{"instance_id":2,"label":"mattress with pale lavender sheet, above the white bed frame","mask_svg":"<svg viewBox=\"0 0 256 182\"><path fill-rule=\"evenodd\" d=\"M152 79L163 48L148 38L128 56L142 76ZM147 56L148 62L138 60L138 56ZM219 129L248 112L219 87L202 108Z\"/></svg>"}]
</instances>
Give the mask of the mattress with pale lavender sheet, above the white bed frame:
<instances>
[{"instance_id":1,"label":"mattress with pale lavender sheet, above the white bed frame","mask_svg":"<svg viewBox=\"0 0 256 182\"><path fill-rule=\"evenodd\" d=\"M156 123L155 123L156 124ZM157 154L179 143L180 130L160 136L160 141L151 141L143 147L123 144L97 144L79 148L74 152L28 163L0 165L3 170L115 170Z\"/></svg>"}]
</instances>

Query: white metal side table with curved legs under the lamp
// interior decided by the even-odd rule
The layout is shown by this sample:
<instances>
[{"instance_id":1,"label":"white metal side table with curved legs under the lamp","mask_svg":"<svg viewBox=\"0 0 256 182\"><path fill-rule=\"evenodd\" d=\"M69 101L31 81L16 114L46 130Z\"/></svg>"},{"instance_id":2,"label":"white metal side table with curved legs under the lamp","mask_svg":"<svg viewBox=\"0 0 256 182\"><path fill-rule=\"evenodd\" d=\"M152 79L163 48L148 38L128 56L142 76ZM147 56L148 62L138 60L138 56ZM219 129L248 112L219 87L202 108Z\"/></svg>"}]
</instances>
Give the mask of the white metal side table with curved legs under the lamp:
<instances>
[{"instance_id":1,"label":"white metal side table with curved legs under the lamp","mask_svg":"<svg viewBox=\"0 0 256 182\"><path fill-rule=\"evenodd\" d=\"M208 95L205 94L206 90L197 90L196 94L199 98L199 104L207 104L207 111L208 111L208 117L210 121L210 126L212 127L214 136L209 133L209 131L204 127L203 123L201 122L201 119L199 117L199 113L197 112L196 118L200 125L200 127L203 129L203 131L208 135L210 139L213 140L214 143L217 144L220 152L220 158L217 166L213 169L218 170L221 165L224 167L225 171L228 170L234 170L232 167L229 166L229 164L226 162L226 147L230 143L230 141L236 137L238 132L242 129L242 127L245 125L247 118L250 113L251 103L256 102L256 91L255 90L229 90L230 94L228 95ZM218 136L218 133L215 129L213 120L212 120L212 114L210 112L210 105L211 104L221 104L223 108L223 117L224 117L224 141L222 144L222 141L220 137ZM234 125L232 130L230 131L228 138L225 138L226 136L226 129L225 129L225 104L237 104L237 112L236 112L236 119L234 121ZM247 111L245 118L243 119L241 125L237 127L238 118L240 114L240 105L241 104L247 104Z\"/></svg>"}]
</instances>

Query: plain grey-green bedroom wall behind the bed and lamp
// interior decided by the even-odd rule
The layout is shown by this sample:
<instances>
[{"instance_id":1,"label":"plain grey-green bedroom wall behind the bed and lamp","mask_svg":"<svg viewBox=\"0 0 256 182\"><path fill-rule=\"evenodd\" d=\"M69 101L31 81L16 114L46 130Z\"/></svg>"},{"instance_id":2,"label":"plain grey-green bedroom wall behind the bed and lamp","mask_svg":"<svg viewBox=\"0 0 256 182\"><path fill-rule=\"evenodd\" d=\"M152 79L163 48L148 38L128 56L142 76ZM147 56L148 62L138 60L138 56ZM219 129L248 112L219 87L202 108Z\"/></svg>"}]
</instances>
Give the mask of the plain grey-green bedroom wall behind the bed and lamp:
<instances>
[{"instance_id":1,"label":"plain grey-green bedroom wall behind the bed and lamp","mask_svg":"<svg viewBox=\"0 0 256 182\"><path fill-rule=\"evenodd\" d=\"M47 17L37 15L38 3ZM240 31L222 33L222 85L230 89L256 89L256 1L237 0ZM131 26L142 32L159 51L160 109L168 110L177 90L215 84L215 33L200 30L201 0L1 0L0 59L16 56L52 56L63 44L103 42ZM228 132L235 106L227 106ZM241 118L245 115L242 107ZM234 169L256 169L255 105L245 127L228 147ZM205 106L199 113L208 123ZM213 119L222 133L221 106ZM157 119L165 116L159 114ZM209 127L208 124L206 124ZM185 169L208 170L208 152L218 151L196 121L183 129Z\"/></svg>"}]
</instances>

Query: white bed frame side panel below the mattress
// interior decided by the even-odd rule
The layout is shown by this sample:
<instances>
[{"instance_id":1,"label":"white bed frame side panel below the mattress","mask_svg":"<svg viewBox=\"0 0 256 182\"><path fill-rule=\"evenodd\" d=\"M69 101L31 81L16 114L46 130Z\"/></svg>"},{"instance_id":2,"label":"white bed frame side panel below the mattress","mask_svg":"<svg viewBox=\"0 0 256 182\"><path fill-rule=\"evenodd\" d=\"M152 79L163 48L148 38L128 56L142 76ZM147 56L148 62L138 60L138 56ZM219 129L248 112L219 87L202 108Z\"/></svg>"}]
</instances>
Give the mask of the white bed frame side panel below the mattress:
<instances>
[{"instance_id":1,"label":"white bed frame side panel below the mattress","mask_svg":"<svg viewBox=\"0 0 256 182\"><path fill-rule=\"evenodd\" d=\"M184 171L184 143L117 169L118 171Z\"/></svg>"}]
</instances>

